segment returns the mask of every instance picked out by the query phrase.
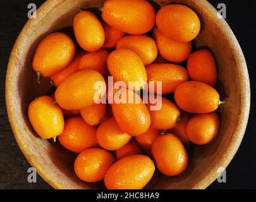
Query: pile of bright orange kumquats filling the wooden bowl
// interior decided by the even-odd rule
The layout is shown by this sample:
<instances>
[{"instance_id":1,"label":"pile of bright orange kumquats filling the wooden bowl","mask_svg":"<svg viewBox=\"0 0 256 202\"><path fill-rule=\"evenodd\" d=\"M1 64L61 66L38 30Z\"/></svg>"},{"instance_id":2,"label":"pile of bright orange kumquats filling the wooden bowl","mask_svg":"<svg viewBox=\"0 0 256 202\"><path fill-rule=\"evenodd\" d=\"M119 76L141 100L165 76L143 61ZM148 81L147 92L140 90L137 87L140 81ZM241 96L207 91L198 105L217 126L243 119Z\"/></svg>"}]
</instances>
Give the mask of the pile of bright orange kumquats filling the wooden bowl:
<instances>
[{"instance_id":1,"label":"pile of bright orange kumquats filling the wooden bowl","mask_svg":"<svg viewBox=\"0 0 256 202\"><path fill-rule=\"evenodd\" d=\"M99 9L101 18L75 15L74 39L54 32L39 43L32 66L56 90L35 98L28 117L39 136L78 153L82 181L142 189L155 169L184 172L186 145L217 135L216 61L192 52L200 20L187 6L107 0Z\"/></svg>"}]
</instances>

